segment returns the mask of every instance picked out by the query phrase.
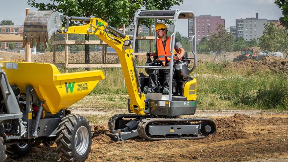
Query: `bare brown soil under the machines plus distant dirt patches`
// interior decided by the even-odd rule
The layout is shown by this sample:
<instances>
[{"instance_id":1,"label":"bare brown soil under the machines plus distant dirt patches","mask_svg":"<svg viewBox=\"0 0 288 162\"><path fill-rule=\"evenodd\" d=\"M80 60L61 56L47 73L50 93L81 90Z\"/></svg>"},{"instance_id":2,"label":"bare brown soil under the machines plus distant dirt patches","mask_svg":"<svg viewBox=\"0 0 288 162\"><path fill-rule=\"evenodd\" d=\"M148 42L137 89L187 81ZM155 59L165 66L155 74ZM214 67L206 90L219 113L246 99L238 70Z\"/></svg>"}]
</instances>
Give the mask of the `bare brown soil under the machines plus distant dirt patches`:
<instances>
[{"instance_id":1,"label":"bare brown soil under the machines plus distant dirt patches","mask_svg":"<svg viewBox=\"0 0 288 162\"><path fill-rule=\"evenodd\" d=\"M3 55L2 55L3 54ZM9 54L0 52L2 60L23 60L24 54ZM46 55L46 54L45 54ZM51 60L51 54L32 56L32 61L46 62ZM15 58L12 58L12 56ZM77 55L74 55L74 58ZM237 53L233 55L237 56ZM78 56L77 56L78 57ZM80 56L79 56L80 57ZM84 56L83 56L84 57ZM199 55L199 60L211 61L212 57ZM229 58L231 57L231 58ZM230 55L228 58L232 60ZM38 59L41 58L41 59ZM210 60L209 60L210 59ZM41 61L42 60L42 61ZM45 61L44 61L45 60ZM269 60L266 62L269 62ZM285 62L285 61L284 61ZM269 64L269 63L267 63ZM257 68L262 66L249 61L239 64ZM279 62L286 70L287 62ZM264 65L266 66L266 65ZM271 63L271 68L278 67ZM279 69L278 69L279 70ZM288 162L288 112L262 110L202 110L195 116L210 117L215 120L217 134L200 140L164 140L146 141L140 138L122 142L112 141L107 132L107 122L114 114L127 113L126 109L109 111L103 109L73 108L72 113L99 118L93 124L92 150L87 159L94 161L287 161ZM184 116L188 117L188 116ZM56 145L31 149L30 154L22 159L7 161L57 161Z\"/></svg>"}]
</instances>

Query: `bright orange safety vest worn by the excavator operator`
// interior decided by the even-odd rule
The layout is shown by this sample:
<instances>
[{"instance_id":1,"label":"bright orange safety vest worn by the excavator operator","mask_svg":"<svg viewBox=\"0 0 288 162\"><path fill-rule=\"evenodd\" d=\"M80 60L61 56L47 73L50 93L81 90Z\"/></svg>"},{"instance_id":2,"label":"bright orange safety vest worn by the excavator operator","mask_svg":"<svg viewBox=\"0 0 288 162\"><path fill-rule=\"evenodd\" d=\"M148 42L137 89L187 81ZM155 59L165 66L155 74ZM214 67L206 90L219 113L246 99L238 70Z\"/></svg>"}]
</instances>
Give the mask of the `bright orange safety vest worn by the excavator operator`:
<instances>
[{"instance_id":1,"label":"bright orange safety vest worn by the excavator operator","mask_svg":"<svg viewBox=\"0 0 288 162\"><path fill-rule=\"evenodd\" d=\"M165 46L165 49L164 49L162 40L160 38L157 39L158 60L162 61L163 66L166 65L166 62L170 62L170 56L171 56L170 48L169 48L170 40L171 40L170 37L168 37L167 40L166 40L166 46ZM174 48L174 54L179 55L180 51L179 51L179 53L177 53L175 48ZM174 56L173 59L176 59L176 56Z\"/></svg>"}]
</instances>

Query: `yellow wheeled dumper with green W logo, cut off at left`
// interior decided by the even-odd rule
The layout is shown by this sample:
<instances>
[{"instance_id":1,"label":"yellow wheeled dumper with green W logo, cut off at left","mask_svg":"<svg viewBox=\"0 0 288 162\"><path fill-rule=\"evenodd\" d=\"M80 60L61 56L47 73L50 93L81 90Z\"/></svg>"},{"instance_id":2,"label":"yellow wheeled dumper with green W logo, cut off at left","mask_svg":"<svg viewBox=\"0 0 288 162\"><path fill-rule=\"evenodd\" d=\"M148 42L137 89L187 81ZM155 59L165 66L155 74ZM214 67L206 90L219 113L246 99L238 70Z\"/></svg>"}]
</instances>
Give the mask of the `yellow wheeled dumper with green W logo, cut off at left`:
<instances>
[{"instance_id":1,"label":"yellow wheeled dumper with green W logo, cut off at left","mask_svg":"<svg viewBox=\"0 0 288 162\"><path fill-rule=\"evenodd\" d=\"M0 161L57 143L61 159L85 161L91 127L67 108L104 79L100 70L61 74L53 64L0 62ZM6 147L7 145L7 152Z\"/></svg>"}]
</instances>

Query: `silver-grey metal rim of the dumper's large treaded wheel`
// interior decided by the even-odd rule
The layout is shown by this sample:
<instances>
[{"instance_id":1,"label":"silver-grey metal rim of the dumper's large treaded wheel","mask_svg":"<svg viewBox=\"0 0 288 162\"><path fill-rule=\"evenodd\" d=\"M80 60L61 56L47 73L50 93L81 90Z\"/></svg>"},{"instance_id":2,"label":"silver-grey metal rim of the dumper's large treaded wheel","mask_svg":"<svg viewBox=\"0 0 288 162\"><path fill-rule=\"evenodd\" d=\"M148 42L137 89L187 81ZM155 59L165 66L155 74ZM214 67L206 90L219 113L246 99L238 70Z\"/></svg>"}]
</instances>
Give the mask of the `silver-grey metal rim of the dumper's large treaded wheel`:
<instances>
[{"instance_id":1,"label":"silver-grey metal rim of the dumper's large treaded wheel","mask_svg":"<svg viewBox=\"0 0 288 162\"><path fill-rule=\"evenodd\" d=\"M89 131L85 126L78 128L75 134L75 148L78 155L84 155L89 145Z\"/></svg>"}]
</instances>

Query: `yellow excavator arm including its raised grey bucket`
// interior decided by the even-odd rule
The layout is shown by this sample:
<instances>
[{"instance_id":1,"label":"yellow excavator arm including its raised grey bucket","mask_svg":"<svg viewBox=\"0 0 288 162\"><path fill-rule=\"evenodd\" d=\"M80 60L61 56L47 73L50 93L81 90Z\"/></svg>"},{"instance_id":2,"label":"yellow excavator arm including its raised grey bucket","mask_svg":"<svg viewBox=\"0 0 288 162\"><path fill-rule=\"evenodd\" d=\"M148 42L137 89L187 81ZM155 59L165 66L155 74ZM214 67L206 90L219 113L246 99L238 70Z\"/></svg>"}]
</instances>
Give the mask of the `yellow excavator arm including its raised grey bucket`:
<instances>
[{"instance_id":1,"label":"yellow excavator arm including its raised grey bucket","mask_svg":"<svg viewBox=\"0 0 288 162\"><path fill-rule=\"evenodd\" d=\"M66 26L62 27L62 21L66 20ZM84 25L69 26L70 21L82 21ZM126 36L99 18L68 17L53 11L30 12L24 22L23 46L30 42L40 42L47 47L48 40L53 33L58 34L89 34L96 35L118 54L122 71L130 97L131 112L144 115L145 95L141 93L137 80L137 71L133 62L133 49L129 36Z\"/></svg>"}]
</instances>

